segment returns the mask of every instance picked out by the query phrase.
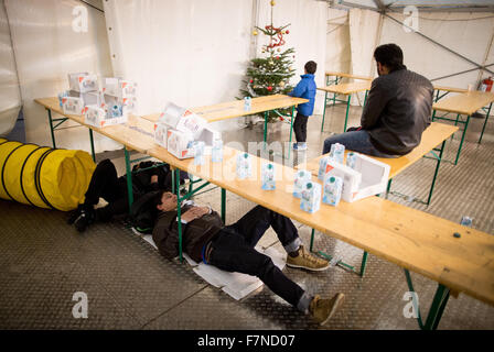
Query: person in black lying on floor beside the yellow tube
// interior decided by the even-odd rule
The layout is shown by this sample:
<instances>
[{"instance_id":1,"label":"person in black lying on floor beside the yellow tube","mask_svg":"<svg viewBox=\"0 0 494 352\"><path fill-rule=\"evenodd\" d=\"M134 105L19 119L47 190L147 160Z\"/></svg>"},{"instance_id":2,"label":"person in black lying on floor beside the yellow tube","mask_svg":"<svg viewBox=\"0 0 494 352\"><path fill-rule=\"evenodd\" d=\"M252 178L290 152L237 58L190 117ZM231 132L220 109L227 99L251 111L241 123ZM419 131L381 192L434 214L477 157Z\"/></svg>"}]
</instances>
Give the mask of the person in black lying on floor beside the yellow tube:
<instances>
[{"instance_id":1,"label":"person in black lying on floor beside the yellow tube","mask_svg":"<svg viewBox=\"0 0 494 352\"><path fill-rule=\"evenodd\" d=\"M155 162L141 162L133 166L132 172L155 166ZM185 173L181 173L181 184L186 178ZM170 165L163 164L132 174L132 195L137 202L139 198L151 191L170 190L172 187L172 172ZM99 198L105 199L108 205L95 209ZM118 177L114 163L106 158L98 163L89 182L85 194L84 204L73 211L67 220L68 224L74 224L77 231L83 232L95 221L106 222L116 216L129 212L127 174Z\"/></svg>"}]
</instances>

